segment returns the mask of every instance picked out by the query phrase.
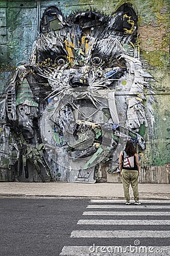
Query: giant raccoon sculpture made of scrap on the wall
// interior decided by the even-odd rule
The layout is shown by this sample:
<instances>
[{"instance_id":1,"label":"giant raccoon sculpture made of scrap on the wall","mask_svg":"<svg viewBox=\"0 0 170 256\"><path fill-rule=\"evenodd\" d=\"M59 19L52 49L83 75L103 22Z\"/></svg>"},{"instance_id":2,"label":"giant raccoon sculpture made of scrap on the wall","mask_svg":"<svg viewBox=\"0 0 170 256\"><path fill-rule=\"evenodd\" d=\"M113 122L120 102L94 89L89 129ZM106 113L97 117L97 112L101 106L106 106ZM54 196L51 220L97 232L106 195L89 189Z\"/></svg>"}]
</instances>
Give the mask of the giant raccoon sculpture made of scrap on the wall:
<instances>
[{"instance_id":1,"label":"giant raccoon sculpture made of scrap on the wall","mask_svg":"<svg viewBox=\"0 0 170 256\"><path fill-rule=\"evenodd\" d=\"M135 47L137 15L129 3L111 16L80 11L65 18L46 8L29 62L7 93L18 151L16 176L94 183L101 165L118 171L126 139L142 149L147 85Z\"/></svg>"}]
</instances>

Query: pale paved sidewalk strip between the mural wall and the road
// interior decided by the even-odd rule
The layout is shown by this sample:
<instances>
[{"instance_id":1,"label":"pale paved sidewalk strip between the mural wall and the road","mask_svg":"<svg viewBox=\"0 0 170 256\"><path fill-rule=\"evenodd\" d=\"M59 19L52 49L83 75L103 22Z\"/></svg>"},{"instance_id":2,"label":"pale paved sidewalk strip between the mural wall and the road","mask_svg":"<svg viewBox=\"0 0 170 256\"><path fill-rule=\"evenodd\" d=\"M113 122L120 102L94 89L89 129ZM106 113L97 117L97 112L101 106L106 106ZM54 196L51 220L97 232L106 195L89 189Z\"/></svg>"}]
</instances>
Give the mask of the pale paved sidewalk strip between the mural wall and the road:
<instances>
[{"instance_id":1,"label":"pale paved sidewalk strip between the mural wall and the road","mask_svg":"<svg viewBox=\"0 0 170 256\"><path fill-rule=\"evenodd\" d=\"M170 200L170 184L139 183L139 196L141 200ZM1 182L0 197L124 199L124 191L121 183Z\"/></svg>"}]
</instances>

